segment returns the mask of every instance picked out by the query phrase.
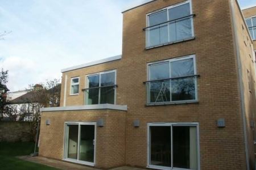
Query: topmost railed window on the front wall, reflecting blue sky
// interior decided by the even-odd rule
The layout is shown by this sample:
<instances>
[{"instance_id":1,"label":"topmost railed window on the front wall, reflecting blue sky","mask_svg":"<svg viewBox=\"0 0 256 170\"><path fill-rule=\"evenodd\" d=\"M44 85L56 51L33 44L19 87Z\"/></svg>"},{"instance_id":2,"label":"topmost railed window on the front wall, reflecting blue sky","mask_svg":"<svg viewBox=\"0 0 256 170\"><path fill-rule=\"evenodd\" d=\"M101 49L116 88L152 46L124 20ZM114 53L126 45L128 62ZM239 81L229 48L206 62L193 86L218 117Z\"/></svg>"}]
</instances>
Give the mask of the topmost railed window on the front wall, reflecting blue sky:
<instances>
[{"instance_id":1,"label":"topmost railed window on the front wall, reflecting blue sky","mask_svg":"<svg viewBox=\"0 0 256 170\"><path fill-rule=\"evenodd\" d=\"M192 39L191 1L147 14L146 48Z\"/></svg>"}]
</instances>

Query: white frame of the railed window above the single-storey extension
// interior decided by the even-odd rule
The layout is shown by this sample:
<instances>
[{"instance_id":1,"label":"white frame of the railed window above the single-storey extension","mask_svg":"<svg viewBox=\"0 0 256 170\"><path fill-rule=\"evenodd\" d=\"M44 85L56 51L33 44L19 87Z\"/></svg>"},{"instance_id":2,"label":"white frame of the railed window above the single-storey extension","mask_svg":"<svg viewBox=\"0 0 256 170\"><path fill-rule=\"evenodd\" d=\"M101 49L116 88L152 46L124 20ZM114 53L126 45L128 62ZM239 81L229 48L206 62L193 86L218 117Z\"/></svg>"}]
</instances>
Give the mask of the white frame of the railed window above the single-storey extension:
<instances>
[{"instance_id":1,"label":"white frame of the railed window above the single-storey extension","mask_svg":"<svg viewBox=\"0 0 256 170\"><path fill-rule=\"evenodd\" d=\"M88 74L88 75L85 75L85 88L89 88L89 82L88 82L88 77L89 76L93 76L93 75L99 75L100 78L99 78L99 87L101 87L101 75L102 74L108 74L108 73L115 73L115 83L114 84L117 84L117 70L109 70L109 71L101 71L101 72L98 72L98 73L93 73L93 74ZM115 91L114 91L114 104L115 104L115 100L116 100L116 95L117 95L117 88L115 87ZM85 97L85 105L89 105L87 103L88 99L87 99L87 95L84 96ZM99 95L98 95L98 104L100 104L100 100L101 100L101 91L99 90Z\"/></svg>"}]
</instances>

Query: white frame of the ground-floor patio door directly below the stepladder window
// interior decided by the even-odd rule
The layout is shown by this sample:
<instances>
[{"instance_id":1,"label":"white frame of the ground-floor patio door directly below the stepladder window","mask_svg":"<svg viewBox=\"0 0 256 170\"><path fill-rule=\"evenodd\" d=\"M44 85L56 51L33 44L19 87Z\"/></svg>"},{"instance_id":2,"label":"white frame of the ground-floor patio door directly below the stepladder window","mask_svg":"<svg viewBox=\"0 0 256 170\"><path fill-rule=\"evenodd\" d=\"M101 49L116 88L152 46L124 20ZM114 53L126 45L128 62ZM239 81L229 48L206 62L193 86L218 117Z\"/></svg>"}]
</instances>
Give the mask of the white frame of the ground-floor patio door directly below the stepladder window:
<instances>
[{"instance_id":1,"label":"white frame of the ground-floor patio door directly below the stepladder window","mask_svg":"<svg viewBox=\"0 0 256 170\"><path fill-rule=\"evenodd\" d=\"M197 169L196 170L200 170L200 135L199 135L198 122L150 122L150 123L147 123L147 168L164 169L164 170L192 170L192 169L184 169L184 168L150 165L150 127L151 126L170 126L171 128L171 166L173 166L172 164L172 160L173 160L172 127L173 126L196 126L196 138L197 138Z\"/></svg>"}]
</instances>

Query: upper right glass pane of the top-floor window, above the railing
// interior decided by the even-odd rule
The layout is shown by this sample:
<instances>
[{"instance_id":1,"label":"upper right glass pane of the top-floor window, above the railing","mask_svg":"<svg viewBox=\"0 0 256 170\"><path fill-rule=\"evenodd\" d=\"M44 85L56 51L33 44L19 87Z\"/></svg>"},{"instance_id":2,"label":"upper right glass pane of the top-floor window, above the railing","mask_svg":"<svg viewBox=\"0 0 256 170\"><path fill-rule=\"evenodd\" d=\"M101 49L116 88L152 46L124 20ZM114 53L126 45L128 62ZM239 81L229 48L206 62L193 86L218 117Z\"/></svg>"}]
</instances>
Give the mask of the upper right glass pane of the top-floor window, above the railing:
<instances>
[{"instance_id":1,"label":"upper right glass pane of the top-floor window, above the railing","mask_svg":"<svg viewBox=\"0 0 256 170\"><path fill-rule=\"evenodd\" d=\"M170 8L168 10L169 20L174 20L178 18L182 18L184 16L190 15L190 5L189 3L185 3L184 5L180 5L174 8Z\"/></svg>"}]
</instances>

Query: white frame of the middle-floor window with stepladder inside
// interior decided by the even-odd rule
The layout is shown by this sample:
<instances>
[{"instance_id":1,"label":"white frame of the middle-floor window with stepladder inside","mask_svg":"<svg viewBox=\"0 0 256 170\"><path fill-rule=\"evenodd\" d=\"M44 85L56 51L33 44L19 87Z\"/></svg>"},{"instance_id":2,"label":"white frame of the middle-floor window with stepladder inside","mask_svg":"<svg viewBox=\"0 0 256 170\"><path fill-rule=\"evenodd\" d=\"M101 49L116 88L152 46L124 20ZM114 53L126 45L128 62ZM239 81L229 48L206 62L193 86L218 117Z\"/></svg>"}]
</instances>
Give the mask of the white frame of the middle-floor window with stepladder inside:
<instances>
[{"instance_id":1,"label":"white frame of the middle-floor window with stepladder inside","mask_svg":"<svg viewBox=\"0 0 256 170\"><path fill-rule=\"evenodd\" d=\"M170 64L170 75L171 75L171 62L181 61L181 60L189 59L189 58L193 58L194 75L196 75L197 74L197 70L196 70L196 55L193 54L193 55L190 55L190 56L183 56L183 57L177 57L177 58L171 58L171 59L166 59L166 60L162 60L162 61L147 63L147 80L150 80L150 65L154 65L154 64L157 64L157 63L163 63L163 62L169 62L169 64ZM171 83L170 83L170 92L171 92ZM167 102L150 103L150 90L149 90L149 88L147 89L147 105L196 103L196 102L198 102L197 77L195 76L195 99L194 100L172 101L171 96L170 96L170 100L171 101L167 101Z\"/></svg>"}]
</instances>

